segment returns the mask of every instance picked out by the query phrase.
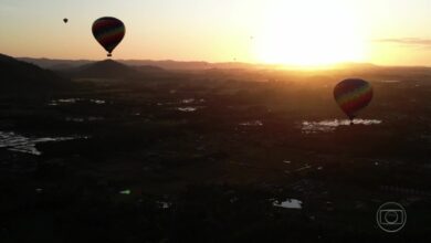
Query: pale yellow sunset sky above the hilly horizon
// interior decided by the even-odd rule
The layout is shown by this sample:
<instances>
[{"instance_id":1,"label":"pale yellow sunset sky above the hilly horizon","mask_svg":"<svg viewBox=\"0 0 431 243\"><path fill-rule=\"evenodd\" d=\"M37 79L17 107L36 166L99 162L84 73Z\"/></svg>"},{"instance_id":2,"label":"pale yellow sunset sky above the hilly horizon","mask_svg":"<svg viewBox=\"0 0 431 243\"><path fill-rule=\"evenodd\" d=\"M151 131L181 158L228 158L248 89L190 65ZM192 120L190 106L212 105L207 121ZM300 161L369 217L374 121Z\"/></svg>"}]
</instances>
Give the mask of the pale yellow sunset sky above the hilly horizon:
<instances>
[{"instance_id":1,"label":"pale yellow sunset sky above the hilly horizon","mask_svg":"<svg viewBox=\"0 0 431 243\"><path fill-rule=\"evenodd\" d=\"M431 0L0 0L0 53L103 60L106 15L114 59L431 66Z\"/></svg>"}]
</instances>

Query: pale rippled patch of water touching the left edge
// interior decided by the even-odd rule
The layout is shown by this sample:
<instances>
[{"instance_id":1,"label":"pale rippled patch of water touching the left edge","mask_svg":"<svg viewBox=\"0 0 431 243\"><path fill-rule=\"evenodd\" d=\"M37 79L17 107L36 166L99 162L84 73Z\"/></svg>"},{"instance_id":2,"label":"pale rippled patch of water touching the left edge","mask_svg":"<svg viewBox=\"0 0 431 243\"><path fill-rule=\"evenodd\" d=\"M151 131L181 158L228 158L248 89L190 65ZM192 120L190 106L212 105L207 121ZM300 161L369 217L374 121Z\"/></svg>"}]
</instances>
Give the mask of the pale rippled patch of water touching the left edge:
<instances>
[{"instance_id":1,"label":"pale rippled patch of water touching the left edge","mask_svg":"<svg viewBox=\"0 0 431 243\"><path fill-rule=\"evenodd\" d=\"M87 137L29 138L22 135L18 135L13 131L0 131L0 148L6 148L10 151L40 156L42 152L36 149L38 144L49 141L66 141L83 138L86 139Z\"/></svg>"}]
</instances>

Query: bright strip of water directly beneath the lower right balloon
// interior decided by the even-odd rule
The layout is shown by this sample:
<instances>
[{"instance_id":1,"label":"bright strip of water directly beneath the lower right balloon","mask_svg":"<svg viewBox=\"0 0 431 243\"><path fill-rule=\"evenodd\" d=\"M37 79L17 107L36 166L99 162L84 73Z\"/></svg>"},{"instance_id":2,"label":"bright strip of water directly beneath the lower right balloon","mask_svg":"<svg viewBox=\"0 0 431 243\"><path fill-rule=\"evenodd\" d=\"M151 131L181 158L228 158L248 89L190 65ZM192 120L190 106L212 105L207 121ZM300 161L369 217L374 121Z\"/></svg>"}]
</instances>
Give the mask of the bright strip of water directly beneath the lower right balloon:
<instances>
[{"instance_id":1,"label":"bright strip of water directly beneath the lower right balloon","mask_svg":"<svg viewBox=\"0 0 431 243\"><path fill-rule=\"evenodd\" d=\"M382 120L379 119L354 119L354 125L380 125ZM301 124L301 129L304 134L317 134L317 133L332 133L339 126L350 126L349 119L333 119L320 122L307 122L304 120Z\"/></svg>"}]
</instances>

